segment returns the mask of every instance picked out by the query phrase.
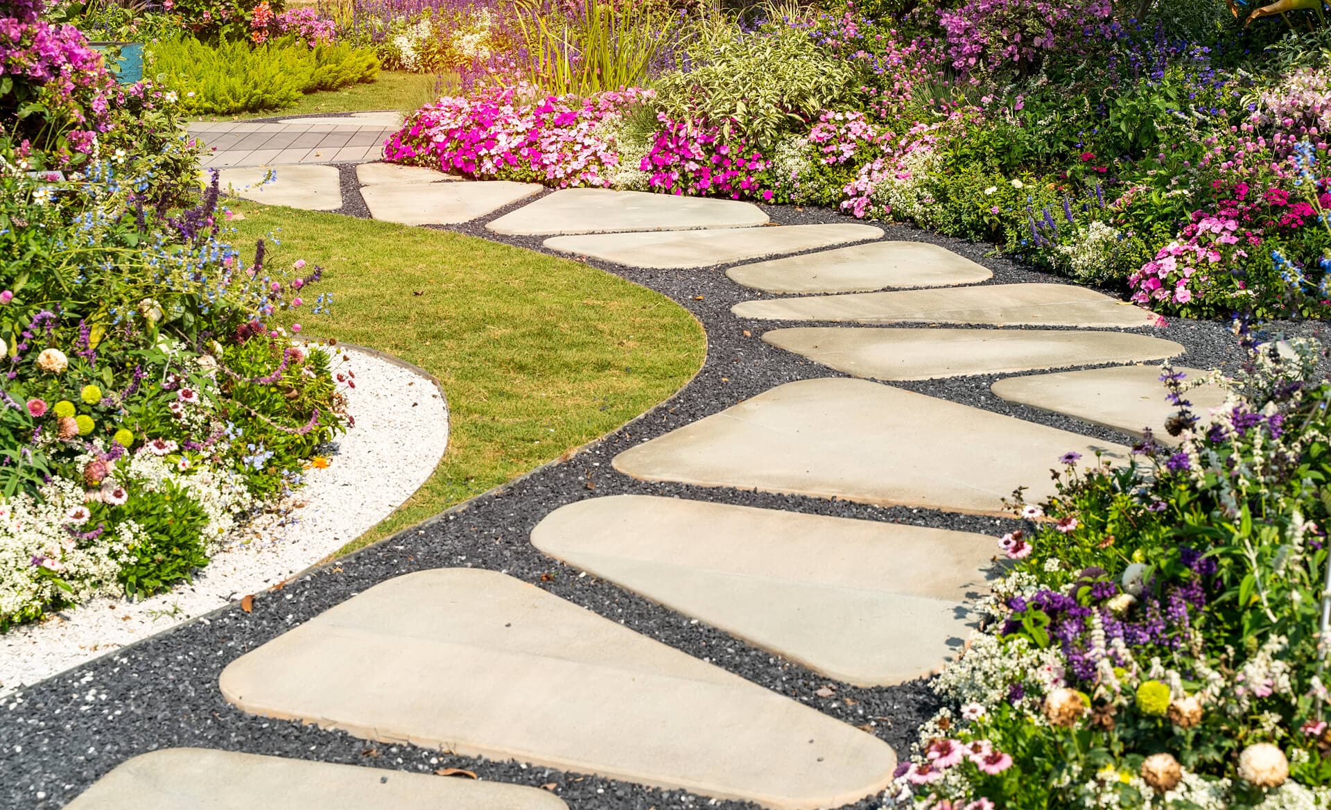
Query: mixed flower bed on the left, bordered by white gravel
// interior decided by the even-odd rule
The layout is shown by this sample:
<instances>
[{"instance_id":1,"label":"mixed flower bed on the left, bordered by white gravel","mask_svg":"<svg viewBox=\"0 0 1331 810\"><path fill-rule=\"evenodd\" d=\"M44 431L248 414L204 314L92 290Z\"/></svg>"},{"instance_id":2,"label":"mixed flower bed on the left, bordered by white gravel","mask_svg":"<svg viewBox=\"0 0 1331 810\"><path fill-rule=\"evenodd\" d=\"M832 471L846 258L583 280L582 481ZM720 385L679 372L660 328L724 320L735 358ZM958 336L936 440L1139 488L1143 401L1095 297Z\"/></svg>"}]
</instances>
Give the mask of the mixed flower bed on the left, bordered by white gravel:
<instances>
[{"instance_id":1,"label":"mixed flower bed on the left, bordered by white gravel","mask_svg":"<svg viewBox=\"0 0 1331 810\"><path fill-rule=\"evenodd\" d=\"M114 88L21 11L0 101L40 107L0 104L0 630L189 578L345 426L327 358L266 324L321 270L242 258L216 181L189 205L172 93Z\"/></svg>"}]
</instances>

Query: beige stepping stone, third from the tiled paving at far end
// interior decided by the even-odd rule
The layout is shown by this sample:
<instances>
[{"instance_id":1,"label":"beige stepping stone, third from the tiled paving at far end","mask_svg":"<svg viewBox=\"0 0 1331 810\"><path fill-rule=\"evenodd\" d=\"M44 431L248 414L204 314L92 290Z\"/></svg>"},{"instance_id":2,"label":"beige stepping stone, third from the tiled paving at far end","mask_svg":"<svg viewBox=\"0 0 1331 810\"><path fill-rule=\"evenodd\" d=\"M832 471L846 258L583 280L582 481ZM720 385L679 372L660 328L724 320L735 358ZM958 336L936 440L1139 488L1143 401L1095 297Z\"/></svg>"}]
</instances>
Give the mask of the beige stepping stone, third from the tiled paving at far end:
<instances>
[{"instance_id":1,"label":"beige stepping stone, third from the tiled paving at far end","mask_svg":"<svg viewBox=\"0 0 1331 810\"><path fill-rule=\"evenodd\" d=\"M510 236L748 228L767 222L752 202L604 188L566 188L486 225Z\"/></svg>"}]
</instances>

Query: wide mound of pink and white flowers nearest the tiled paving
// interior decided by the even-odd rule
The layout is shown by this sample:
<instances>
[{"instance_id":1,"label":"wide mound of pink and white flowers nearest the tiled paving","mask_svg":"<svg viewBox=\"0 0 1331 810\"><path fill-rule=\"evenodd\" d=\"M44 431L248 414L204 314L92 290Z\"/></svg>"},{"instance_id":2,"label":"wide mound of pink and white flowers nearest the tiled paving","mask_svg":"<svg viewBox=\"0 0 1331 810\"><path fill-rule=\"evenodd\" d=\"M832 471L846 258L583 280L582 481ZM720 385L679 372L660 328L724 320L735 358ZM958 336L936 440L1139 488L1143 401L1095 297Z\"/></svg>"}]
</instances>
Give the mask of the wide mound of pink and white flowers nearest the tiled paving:
<instances>
[{"instance_id":1,"label":"wide mound of pink and white flowers nearest the tiled paving","mask_svg":"<svg viewBox=\"0 0 1331 810\"><path fill-rule=\"evenodd\" d=\"M604 187L619 164L611 127L644 97L650 91L639 88L582 100L522 101L514 89L447 96L410 116L385 157L474 177Z\"/></svg>"}]
</instances>

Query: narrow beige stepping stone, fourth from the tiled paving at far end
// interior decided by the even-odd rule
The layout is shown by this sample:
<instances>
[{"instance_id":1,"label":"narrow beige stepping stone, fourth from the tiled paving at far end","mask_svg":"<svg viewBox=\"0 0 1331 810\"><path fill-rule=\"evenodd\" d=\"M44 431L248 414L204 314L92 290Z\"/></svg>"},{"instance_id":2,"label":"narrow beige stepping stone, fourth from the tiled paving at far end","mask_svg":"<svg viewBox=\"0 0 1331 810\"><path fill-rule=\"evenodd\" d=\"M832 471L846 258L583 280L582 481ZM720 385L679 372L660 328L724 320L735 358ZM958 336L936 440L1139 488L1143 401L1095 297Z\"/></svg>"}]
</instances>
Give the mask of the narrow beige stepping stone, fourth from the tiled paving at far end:
<instances>
[{"instance_id":1,"label":"narrow beige stepping stone, fourth from the tiled paving at far end","mask_svg":"<svg viewBox=\"0 0 1331 810\"><path fill-rule=\"evenodd\" d=\"M716 264L799 253L882 236L872 225L780 225L654 233L556 236L546 246L631 268L705 268Z\"/></svg>"}]
</instances>

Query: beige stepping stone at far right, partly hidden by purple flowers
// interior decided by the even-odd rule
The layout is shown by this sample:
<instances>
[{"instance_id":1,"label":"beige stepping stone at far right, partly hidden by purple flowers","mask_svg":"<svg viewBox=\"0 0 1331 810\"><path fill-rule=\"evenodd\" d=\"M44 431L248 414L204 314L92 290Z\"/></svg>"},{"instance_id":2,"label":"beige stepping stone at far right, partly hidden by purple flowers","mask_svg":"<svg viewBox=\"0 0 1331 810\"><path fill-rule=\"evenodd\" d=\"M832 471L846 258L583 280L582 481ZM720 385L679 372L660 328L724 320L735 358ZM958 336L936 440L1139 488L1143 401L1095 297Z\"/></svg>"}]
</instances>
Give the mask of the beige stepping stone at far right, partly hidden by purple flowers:
<instances>
[{"instance_id":1,"label":"beige stepping stone at far right, partly hidden by purple flowers","mask_svg":"<svg viewBox=\"0 0 1331 810\"><path fill-rule=\"evenodd\" d=\"M1206 377L1209 372L1178 366L1190 378ZM1009 402L1021 402L1041 410L1103 425L1133 436L1142 436L1150 428L1155 438L1165 444L1178 440L1165 430L1165 422L1178 412L1166 400L1161 368L1133 365L1117 369L1087 369L1059 374L1033 374L1009 377L993 384L993 392ZM1209 410L1225 404L1225 392L1215 385L1202 385L1185 397L1201 425L1210 422Z\"/></svg>"}]
</instances>

